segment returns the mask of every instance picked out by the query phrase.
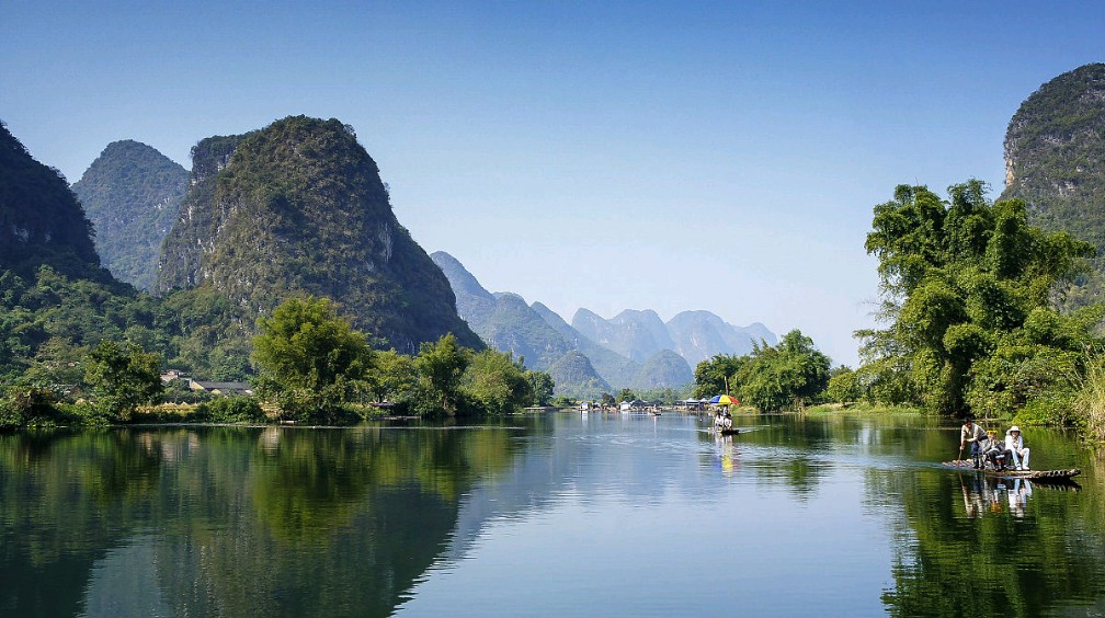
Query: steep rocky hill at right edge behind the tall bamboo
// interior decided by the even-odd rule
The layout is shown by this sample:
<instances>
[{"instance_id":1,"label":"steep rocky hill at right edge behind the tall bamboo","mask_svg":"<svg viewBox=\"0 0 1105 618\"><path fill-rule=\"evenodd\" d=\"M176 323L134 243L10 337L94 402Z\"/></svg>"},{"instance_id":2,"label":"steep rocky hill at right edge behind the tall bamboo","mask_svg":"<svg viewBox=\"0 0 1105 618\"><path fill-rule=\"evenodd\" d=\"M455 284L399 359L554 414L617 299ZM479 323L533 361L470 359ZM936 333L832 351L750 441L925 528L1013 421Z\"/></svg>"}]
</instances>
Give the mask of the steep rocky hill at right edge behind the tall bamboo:
<instances>
[{"instance_id":1,"label":"steep rocky hill at right edge behind the tall bamboo","mask_svg":"<svg viewBox=\"0 0 1105 618\"><path fill-rule=\"evenodd\" d=\"M1105 291L1105 64L1064 73L1021 104L1006 132L1001 199L1028 203L1034 225L1066 231L1097 246L1095 271L1075 305Z\"/></svg>"}]
</instances>

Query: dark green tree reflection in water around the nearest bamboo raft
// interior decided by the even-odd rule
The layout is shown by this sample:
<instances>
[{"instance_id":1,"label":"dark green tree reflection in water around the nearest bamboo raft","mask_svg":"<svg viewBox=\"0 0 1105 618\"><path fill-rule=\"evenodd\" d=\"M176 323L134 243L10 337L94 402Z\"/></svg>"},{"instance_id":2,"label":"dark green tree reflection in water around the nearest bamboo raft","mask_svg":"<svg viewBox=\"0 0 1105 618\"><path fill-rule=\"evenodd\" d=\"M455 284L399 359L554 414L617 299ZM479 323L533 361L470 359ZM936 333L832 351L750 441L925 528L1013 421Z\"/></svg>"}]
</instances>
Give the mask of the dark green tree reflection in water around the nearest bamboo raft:
<instances>
[{"instance_id":1,"label":"dark green tree reflection in water around the nearest bamboo raft","mask_svg":"<svg viewBox=\"0 0 1105 618\"><path fill-rule=\"evenodd\" d=\"M1033 616L1105 592L1101 555L1072 542L1080 529L1101 530L1102 512L1072 508L1063 492L946 471L871 481L872 493L903 504L895 586L883 595L893 615Z\"/></svg>"}]
</instances>

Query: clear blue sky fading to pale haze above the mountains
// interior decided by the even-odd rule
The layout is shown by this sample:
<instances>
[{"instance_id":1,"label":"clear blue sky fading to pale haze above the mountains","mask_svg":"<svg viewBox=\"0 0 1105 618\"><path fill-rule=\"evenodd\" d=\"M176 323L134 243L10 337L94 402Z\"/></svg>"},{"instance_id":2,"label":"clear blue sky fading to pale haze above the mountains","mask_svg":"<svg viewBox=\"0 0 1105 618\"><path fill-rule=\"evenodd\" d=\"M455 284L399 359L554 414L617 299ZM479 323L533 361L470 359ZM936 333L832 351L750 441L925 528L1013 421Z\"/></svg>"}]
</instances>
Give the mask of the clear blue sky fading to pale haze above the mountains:
<instances>
[{"instance_id":1,"label":"clear blue sky fading to pale haze above the mountains","mask_svg":"<svg viewBox=\"0 0 1105 618\"><path fill-rule=\"evenodd\" d=\"M0 119L81 178L305 114L350 124L427 252L571 320L707 309L838 363L871 326L872 207L1002 189L1052 77L1105 61L1095 2L0 0Z\"/></svg>"}]
</instances>

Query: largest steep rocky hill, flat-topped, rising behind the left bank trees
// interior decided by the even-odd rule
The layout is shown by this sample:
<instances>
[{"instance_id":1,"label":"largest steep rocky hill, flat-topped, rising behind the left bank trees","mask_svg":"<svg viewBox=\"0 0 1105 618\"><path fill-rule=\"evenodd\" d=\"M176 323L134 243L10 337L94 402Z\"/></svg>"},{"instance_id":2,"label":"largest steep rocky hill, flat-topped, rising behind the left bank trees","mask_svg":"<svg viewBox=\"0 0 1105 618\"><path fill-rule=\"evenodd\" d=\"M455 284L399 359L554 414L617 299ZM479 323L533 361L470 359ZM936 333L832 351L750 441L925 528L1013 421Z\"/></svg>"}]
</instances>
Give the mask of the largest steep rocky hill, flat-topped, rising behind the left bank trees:
<instances>
[{"instance_id":1,"label":"largest steep rocky hill, flat-topped, rising behind the left bank trees","mask_svg":"<svg viewBox=\"0 0 1105 618\"><path fill-rule=\"evenodd\" d=\"M336 300L401 352L453 332L449 281L396 220L376 162L336 119L277 120L192 151L191 187L166 238L157 288L210 286L250 323L298 294Z\"/></svg>"}]
</instances>

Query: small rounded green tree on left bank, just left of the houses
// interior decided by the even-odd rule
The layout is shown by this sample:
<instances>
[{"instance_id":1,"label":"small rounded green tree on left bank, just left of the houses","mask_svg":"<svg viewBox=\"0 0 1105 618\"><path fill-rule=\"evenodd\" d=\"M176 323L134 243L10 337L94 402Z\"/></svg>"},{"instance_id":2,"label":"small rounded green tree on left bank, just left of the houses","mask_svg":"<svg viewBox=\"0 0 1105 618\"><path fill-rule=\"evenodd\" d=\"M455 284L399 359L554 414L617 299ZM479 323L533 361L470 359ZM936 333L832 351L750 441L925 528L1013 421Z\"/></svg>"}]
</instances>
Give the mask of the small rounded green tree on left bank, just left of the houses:
<instances>
[{"instance_id":1,"label":"small rounded green tree on left bank, just left of the houses","mask_svg":"<svg viewBox=\"0 0 1105 618\"><path fill-rule=\"evenodd\" d=\"M135 343L105 339L88 353L84 380L104 412L129 419L143 404L155 403L164 392L161 358Z\"/></svg>"}]
</instances>

